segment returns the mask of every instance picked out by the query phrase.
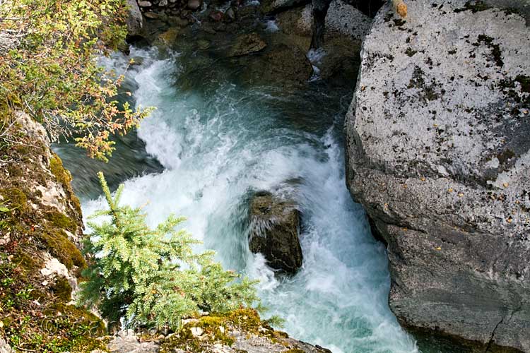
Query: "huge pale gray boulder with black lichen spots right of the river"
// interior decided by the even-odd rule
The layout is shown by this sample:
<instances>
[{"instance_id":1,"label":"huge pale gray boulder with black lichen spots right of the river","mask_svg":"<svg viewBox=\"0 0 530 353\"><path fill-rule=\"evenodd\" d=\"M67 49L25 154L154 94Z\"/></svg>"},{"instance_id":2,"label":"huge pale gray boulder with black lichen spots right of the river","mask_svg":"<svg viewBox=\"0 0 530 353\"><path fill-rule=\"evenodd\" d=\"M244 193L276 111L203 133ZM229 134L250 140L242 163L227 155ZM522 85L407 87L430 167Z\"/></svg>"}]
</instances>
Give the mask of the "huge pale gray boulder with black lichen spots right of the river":
<instances>
[{"instance_id":1,"label":"huge pale gray boulder with black lichen spots right of the river","mask_svg":"<svg viewBox=\"0 0 530 353\"><path fill-rule=\"evenodd\" d=\"M406 3L405 19L377 14L346 117L348 188L387 242L391 310L530 352L530 28L513 9Z\"/></svg>"}]
</instances>

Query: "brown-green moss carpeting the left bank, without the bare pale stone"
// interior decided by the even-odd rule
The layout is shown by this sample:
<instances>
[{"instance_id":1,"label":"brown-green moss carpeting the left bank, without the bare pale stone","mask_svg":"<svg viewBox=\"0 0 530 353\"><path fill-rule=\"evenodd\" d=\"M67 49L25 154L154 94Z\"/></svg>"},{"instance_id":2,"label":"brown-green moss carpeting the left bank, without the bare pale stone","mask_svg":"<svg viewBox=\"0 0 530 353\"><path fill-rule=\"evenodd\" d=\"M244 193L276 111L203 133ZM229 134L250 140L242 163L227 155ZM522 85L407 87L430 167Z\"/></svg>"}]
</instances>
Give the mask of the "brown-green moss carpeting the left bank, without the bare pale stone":
<instances>
[{"instance_id":1,"label":"brown-green moss carpeting the left bank, without the bare pale stone","mask_svg":"<svg viewBox=\"0 0 530 353\"><path fill-rule=\"evenodd\" d=\"M66 234L82 227L71 177L59 157L48 160L45 143L30 140L22 130L17 141L0 143L0 337L18 352L104 349L95 339L103 334L101 321L67 304L72 289L66 278L47 280L40 274L45 252L73 273L85 267L81 252ZM64 186L71 205L66 215L42 204L42 193L35 186L49 182Z\"/></svg>"}]
</instances>

